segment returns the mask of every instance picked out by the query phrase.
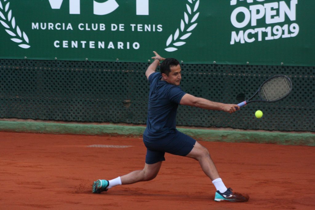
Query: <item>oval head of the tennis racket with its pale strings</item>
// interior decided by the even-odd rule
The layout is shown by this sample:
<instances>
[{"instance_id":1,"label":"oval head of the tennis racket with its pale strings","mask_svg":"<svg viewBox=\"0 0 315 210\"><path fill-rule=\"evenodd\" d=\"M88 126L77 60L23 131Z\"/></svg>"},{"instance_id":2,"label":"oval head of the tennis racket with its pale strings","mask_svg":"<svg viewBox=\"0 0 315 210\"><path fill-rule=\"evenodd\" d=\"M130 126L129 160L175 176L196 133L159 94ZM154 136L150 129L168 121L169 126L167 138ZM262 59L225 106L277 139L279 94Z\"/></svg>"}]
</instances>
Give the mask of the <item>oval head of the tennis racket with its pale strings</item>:
<instances>
[{"instance_id":1,"label":"oval head of the tennis racket with its pale strings","mask_svg":"<svg viewBox=\"0 0 315 210\"><path fill-rule=\"evenodd\" d=\"M287 77L273 77L261 86L261 98L267 101L277 101L290 93L291 86L292 83Z\"/></svg>"}]
</instances>

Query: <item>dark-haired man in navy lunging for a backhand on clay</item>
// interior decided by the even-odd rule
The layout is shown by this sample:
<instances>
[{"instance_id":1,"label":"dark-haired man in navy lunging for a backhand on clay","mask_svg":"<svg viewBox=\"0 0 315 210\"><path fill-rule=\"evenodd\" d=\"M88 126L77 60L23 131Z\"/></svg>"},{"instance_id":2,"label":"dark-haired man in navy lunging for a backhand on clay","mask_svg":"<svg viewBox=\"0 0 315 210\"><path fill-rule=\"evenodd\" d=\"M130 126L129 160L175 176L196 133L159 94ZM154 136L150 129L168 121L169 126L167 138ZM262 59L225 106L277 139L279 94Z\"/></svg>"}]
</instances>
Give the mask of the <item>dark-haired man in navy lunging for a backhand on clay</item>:
<instances>
[{"instance_id":1,"label":"dark-haired man in navy lunging for a backhand on clay","mask_svg":"<svg viewBox=\"0 0 315 210\"><path fill-rule=\"evenodd\" d=\"M179 87L181 68L178 60L164 59L153 51L154 61L146 70L150 82L147 127L143 133L143 142L147 148L146 163L142 170L133 171L112 180L99 179L92 185L93 193L107 191L120 184L133 184L149 181L157 176L165 152L196 159L203 172L215 185L215 201L247 201L248 198L233 193L226 188L212 162L209 151L195 139L176 130L176 113L178 105L196 106L209 110L233 113L240 107L236 104L222 104L187 94ZM160 61L163 61L160 65ZM160 71L155 72L160 65Z\"/></svg>"}]
</instances>

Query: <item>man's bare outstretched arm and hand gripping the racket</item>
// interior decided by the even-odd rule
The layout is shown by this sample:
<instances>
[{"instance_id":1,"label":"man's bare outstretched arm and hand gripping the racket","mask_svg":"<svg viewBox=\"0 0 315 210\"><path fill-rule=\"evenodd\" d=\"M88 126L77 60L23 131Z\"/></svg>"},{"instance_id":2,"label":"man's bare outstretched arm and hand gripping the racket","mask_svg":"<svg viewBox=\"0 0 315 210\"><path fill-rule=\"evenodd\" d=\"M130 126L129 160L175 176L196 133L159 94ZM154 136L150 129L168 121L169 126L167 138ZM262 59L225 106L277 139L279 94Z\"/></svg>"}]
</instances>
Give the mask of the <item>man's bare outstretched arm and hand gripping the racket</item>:
<instances>
[{"instance_id":1,"label":"man's bare outstretched arm and hand gripping the racket","mask_svg":"<svg viewBox=\"0 0 315 210\"><path fill-rule=\"evenodd\" d=\"M180 105L195 106L202 109L219 110L228 113L233 113L240 108L237 104L223 104L203 98L198 98L190 94L185 94L181 98Z\"/></svg>"}]
</instances>

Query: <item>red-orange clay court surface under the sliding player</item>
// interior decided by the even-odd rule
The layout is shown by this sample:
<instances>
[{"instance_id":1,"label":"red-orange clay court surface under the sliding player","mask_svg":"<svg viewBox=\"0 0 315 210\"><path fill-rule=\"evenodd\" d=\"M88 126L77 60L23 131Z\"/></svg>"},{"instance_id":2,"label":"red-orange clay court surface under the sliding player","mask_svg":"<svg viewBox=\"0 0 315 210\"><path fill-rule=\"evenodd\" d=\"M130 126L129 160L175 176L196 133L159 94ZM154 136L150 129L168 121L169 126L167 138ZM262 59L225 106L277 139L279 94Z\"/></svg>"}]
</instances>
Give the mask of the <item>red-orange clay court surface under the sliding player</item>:
<instances>
[{"instance_id":1,"label":"red-orange clay court surface under the sliding player","mask_svg":"<svg viewBox=\"0 0 315 210\"><path fill-rule=\"evenodd\" d=\"M92 194L94 180L143 168L142 139L0 132L0 209L315 209L315 147L200 143L248 202L213 201L198 162L169 154L152 181Z\"/></svg>"}]
</instances>

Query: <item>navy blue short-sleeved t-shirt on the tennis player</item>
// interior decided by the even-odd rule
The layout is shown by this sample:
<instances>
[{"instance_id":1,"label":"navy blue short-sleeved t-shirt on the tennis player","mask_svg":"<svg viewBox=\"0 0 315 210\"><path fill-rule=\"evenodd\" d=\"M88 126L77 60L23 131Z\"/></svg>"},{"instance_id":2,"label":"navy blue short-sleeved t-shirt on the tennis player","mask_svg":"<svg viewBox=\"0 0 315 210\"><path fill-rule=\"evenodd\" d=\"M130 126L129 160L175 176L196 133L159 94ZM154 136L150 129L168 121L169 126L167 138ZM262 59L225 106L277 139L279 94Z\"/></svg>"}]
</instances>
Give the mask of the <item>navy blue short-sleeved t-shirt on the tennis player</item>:
<instances>
[{"instance_id":1,"label":"navy blue short-sleeved t-shirt on the tennis player","mask_svg":"<svg viewBox=\"0 0 315 210\"><path fill-rule=\"evenodd\" d=\"M177 107L186 94L179 86L161 80L161 73L149 76L148 119L143 135L157 139L175 133Z\"/></svg>"}]
</instances>

